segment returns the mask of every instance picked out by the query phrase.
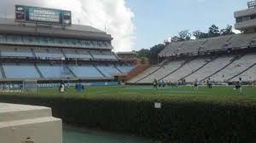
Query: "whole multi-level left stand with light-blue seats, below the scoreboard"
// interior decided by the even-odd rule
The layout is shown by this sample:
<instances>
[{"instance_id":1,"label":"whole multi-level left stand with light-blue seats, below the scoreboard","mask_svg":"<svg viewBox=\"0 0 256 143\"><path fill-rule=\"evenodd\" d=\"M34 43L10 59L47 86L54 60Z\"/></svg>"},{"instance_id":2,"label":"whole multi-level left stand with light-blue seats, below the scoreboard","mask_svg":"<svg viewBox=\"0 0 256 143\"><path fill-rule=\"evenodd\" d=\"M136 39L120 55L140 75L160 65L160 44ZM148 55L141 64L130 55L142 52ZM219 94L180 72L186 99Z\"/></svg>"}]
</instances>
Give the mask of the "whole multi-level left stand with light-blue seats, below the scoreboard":
<instances>
[{"instance_id":1,"label":"whole multi-level left stand with light-blue seats, below the scoreboard","mask_svg":"<svg viewBox=\"0 0 256 143\"><path fill-rule=\"evenodd\" d=\"M112 37L91 26L51 26L0 19L0 81L113 81L134 66L112 52Z\"/></svg>"}]
</instances>

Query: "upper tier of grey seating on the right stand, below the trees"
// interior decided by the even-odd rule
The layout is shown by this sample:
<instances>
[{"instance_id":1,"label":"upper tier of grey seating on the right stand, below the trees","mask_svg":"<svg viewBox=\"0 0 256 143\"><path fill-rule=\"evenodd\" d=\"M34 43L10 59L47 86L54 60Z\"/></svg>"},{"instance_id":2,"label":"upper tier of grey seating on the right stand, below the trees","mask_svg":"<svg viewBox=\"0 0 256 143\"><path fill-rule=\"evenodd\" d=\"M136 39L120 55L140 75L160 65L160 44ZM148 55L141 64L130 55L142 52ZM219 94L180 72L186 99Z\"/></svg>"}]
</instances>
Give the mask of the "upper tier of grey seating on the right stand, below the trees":
<instances>
[{"instance_id":1,"label":"upper tier of grey seating on the right stand, below the trees","mask_svg":"<svg viewBox=\"0 0 256 143\"><path fill-rule=\"evenodd\" d=\"M255 33L172 42L166 45L166 48L160 52L159 56L169 57L178 54L197 54L197 52L205 53L242 47L247 48L253 41L256 41Z\"/></svg>"}]
</instances>

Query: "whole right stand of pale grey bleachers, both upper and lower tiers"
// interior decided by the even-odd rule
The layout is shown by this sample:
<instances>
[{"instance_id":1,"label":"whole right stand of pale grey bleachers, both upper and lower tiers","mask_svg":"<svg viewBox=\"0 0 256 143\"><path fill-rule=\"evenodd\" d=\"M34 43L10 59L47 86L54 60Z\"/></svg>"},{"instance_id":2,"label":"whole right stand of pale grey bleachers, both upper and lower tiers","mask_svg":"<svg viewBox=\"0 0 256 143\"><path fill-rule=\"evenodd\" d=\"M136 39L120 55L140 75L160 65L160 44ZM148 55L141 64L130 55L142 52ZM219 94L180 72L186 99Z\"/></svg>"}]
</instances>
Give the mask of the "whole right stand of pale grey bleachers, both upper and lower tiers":
<instances>
[{"instance_id":1,"label":"whole right stand of pale grey bleachers, both upper and lower tiers","mask_svg":"<svg viewBox=\"0 0 256 143\"><path fill-rule=\"evenodd\" d=\"M172 42L166 45L159 57L165 64L151 66L128 83L158 81L177 83L195 80L214 83L238 80L254 81L256 68L256 33L242 33L200 40Z\"/></svg>"}]
</instances>

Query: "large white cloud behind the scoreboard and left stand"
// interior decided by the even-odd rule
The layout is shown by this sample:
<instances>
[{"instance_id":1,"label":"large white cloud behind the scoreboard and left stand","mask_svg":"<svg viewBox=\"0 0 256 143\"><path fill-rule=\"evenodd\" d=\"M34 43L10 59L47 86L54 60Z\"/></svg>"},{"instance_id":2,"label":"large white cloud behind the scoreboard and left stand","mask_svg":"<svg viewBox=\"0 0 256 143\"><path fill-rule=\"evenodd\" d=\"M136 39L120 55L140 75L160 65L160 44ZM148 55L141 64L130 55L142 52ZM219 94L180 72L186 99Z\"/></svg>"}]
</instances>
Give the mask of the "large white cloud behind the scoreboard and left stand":
<instances>
[{"instance_id":1,"label":"large white cloud behind the scoreboard and left stand","mask_svg":"<svg viewBox=\"0 0 256 143\"><path fill-rule=\"evenodd\" d=\"M0 16L14 17L15 4L73 12L73 23L94 26L113 37L114 51L131 51L134 46L134 14L125 0L1 0Z\"/></svg>"}]
</instances>

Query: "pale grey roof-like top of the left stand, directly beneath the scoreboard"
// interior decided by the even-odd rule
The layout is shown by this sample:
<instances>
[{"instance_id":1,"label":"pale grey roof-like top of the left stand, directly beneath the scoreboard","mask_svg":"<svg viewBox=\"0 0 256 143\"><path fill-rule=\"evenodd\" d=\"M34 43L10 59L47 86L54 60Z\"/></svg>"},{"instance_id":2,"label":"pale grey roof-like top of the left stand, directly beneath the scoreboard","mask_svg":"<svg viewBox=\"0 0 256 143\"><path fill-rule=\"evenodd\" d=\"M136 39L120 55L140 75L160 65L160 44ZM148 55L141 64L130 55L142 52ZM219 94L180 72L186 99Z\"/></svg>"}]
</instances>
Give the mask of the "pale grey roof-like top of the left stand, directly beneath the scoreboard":
<instances>
[{"instance_id":1,"label":"pale grey roof-like top of the left stand, directly beneath the scoreboard","mask_svg":"<svg viewBox=\"0 0 256 143\"><path fill-rule=\"evenodd\" d=\"M112 40L111 35L92 26L72 25L62 28L60 26L36 26L31 23L15 22L14 19L0 18L0 33L40 35L47 37L76 37L93 40Z\"/></svg>"}]
</instances>

